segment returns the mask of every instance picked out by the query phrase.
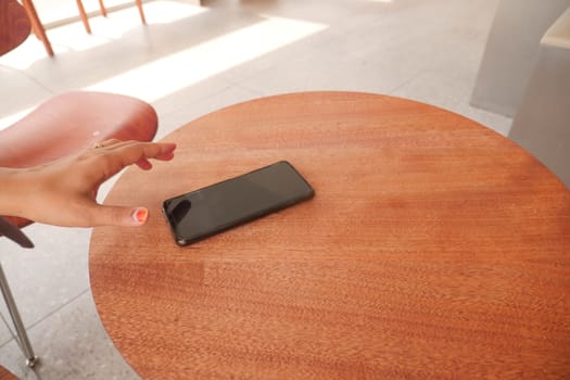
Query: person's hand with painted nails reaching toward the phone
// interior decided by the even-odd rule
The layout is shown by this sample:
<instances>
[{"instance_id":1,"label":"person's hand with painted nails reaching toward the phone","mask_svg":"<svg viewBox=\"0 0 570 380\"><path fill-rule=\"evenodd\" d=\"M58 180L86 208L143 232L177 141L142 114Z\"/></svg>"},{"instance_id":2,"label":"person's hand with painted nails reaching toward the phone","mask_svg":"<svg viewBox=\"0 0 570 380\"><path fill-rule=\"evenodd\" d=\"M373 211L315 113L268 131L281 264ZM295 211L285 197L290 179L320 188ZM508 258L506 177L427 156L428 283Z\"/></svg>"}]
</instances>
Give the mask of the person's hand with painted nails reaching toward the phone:
<instances>
[{"instance_id":1,"label":"person's hand with painted nails reaching toward the phone","mask_svg":"<svg viewBox=\"0 0 570 380\"><path fill-rule=\"evenodd\" d=\"M0 168L0 215L55 226L140 226L144 207L97 203L101 183L131 164L148 170L151 159L169 161L174 143L107 140L78 155L25 168Z\"/></svg>"}]
</instances>

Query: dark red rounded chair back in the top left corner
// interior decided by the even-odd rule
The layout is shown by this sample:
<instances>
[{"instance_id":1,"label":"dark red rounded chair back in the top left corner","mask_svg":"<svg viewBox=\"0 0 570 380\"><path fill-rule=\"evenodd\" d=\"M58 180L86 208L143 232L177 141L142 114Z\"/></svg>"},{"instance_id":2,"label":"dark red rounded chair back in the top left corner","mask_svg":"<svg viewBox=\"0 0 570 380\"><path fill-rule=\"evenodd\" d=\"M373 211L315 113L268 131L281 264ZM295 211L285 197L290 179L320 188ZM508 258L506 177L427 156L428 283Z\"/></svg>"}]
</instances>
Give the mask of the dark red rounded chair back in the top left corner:
<instances>
[{"instance_id":1,"label":"dark red rounded chair back in the top left corner","mask_svg":"<svg viewBox=\"0 0 570 380\"><path fill-rule=\"evenodd\" d=\"M24 7L16 0L0 0L0 55L24 42L30 33Z\"/></svg>"}]
</instances>

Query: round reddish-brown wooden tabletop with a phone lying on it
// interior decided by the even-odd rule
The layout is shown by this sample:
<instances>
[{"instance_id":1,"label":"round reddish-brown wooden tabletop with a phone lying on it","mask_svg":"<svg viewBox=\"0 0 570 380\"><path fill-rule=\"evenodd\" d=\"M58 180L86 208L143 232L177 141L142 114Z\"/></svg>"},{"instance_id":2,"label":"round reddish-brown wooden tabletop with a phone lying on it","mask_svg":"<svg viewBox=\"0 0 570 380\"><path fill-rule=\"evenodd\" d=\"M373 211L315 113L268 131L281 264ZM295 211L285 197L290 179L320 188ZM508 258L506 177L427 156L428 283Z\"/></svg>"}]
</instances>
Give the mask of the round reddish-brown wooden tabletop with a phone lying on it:
<instances>
[{"instance_id":1,"label":"round reddish-brown wooden tabletop with a phone lying on it","mask_svg":"<svg viewBox=\"0 0 570 380\"><path fill-rule=\"evenodd\" d=\"M427 104L312 92L233 105L164 141L96 228L94 301L144 379L569 378L570 192L494 131ZM279 160L303 204L187 248L162 201Z\"/></svg>"}]
</instances>

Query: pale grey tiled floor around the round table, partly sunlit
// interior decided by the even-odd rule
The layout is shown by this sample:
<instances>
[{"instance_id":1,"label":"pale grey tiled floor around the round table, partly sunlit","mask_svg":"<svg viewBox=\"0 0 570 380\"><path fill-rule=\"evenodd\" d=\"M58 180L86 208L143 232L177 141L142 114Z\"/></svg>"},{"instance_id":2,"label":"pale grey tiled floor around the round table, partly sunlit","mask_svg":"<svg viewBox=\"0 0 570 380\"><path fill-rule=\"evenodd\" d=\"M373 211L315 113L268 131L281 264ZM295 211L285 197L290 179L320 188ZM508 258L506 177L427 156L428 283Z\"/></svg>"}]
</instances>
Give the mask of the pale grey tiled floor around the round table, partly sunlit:
<instances>
[{"instance_id":1,"label":"pale grey tiled floor around the round table, partly sunlit","mask_svg":"<svg viewBox=\"0 0 570 380\"><path fill-rule=\"evenodd\" d=\"M40 10L46 1L52 0L36 0ZM53 59L34 38L0 58L0 128L72 89L151 102L159 138L253 98L355 90L440 105L506 135L509 118L469 105L497 2L211 0L199 8L150 1L147 26L127 8L92 18L92 36L80 23L49 29ZM43 225L26 231L37 248L24 251L0 239L0 259L41 365L37 375L25 367L2 324L0 364L24 379L137 379L106 338L91 299L90 231ZM0 312L8 315L3 305Z\"/></svg>"}]
</instances>

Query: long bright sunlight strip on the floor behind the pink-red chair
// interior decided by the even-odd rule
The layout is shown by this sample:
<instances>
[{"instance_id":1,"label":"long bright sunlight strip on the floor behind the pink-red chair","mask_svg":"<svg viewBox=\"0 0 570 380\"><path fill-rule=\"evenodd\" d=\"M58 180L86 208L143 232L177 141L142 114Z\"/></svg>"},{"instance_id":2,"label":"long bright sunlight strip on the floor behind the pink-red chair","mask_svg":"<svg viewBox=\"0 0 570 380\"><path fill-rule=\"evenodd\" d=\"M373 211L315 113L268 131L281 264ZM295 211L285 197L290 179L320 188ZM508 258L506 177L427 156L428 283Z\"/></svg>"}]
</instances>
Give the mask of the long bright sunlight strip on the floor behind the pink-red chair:
<instances>
[{"instance_id":1,"label":"long bright sunlight strip on the floor behind the pink-red chair","mask_svg":"<svg viewBox=\"0 0 570 380\"><path fill-rule=\"evenodd\" d=\"M121 92L152 102L327 28L324 24L305 21L264 17L259 23L138 66L87 89Z\"/></svg>"}]
</instances>

